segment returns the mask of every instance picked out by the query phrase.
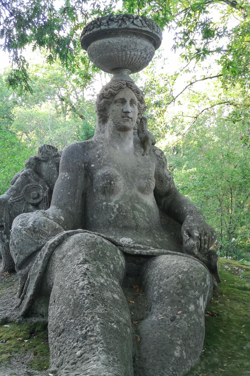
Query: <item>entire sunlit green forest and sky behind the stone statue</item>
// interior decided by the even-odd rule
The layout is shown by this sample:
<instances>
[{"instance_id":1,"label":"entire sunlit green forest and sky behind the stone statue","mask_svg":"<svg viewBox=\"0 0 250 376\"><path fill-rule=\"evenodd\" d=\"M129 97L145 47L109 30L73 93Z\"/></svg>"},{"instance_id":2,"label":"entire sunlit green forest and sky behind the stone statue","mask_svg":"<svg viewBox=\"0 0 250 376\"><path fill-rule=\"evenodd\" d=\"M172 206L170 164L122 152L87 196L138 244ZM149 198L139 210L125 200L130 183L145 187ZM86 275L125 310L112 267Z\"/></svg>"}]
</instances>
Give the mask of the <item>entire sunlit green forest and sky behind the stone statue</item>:
<instances>
[{"instance_id":1,"label":"entire sunlit green forest and sky behind the stone statue","mask_svg":"<svg viewBox=\"0 0 250 376\"><path fill-rule=\"evenodd\" d=\"M217 231L220 256L250 264L250 3L248 0L1 0L0 194L28 156L94 134L109 81L82 51L96 17L132 13L164 30L133 75L178 190Z\"/></svg>"}]
</instances>

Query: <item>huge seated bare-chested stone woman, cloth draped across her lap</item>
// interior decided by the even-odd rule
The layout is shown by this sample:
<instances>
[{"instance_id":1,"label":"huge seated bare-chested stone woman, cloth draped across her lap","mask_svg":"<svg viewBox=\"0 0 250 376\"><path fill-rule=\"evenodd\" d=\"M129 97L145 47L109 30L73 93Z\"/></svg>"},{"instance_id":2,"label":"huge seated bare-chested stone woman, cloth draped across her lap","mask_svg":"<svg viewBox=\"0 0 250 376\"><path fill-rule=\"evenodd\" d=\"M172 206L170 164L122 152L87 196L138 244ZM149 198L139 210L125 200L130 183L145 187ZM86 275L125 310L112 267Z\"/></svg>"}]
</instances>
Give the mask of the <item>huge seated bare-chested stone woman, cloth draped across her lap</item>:
<instances>
[{"instance_id":1,"label":"huge seated bare-chested stone woman, cloth draped across her lap","mask_svg":"<svg viewBox=\"0 0 250 376\"><path fill-rule=\"evenodd\" d=\"M141 22L123 17L121 33ZM100 40L87 28L94 43L107 42L113 20L98 21ZM53 375L181 376L202 351L216 233L178 193L164 153L152 142L144 153L144 111L128 69L115 71L97 97L94 137L63 151L50 208L13 221L20 314L48 312ZM129 299L130 282L141 301Z\"/></svg>"}]
</instances>

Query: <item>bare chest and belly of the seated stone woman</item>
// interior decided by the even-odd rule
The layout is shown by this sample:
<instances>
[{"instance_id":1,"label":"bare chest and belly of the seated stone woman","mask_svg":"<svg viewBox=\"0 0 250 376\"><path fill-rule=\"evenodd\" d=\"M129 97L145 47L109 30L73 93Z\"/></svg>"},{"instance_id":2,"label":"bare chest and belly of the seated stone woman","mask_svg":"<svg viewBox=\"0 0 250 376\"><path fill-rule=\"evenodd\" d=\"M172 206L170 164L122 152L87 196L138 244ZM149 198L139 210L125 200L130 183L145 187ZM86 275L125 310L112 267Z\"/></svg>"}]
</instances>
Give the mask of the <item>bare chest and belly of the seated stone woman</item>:
<instances>
[{"instance_id":1,"label":"bare chest and belly of the seated stone woman","mask_svg":"<svg viewBox=\"0 0 250 376\"><path fill-rule=\"evenodd\" d=\"M121 153L91 141L84 153L82 227L127 243L163 247L166 231L154 199L155 148L143 156L139 139L133 150Z\"/></svg>"}]
</instances>

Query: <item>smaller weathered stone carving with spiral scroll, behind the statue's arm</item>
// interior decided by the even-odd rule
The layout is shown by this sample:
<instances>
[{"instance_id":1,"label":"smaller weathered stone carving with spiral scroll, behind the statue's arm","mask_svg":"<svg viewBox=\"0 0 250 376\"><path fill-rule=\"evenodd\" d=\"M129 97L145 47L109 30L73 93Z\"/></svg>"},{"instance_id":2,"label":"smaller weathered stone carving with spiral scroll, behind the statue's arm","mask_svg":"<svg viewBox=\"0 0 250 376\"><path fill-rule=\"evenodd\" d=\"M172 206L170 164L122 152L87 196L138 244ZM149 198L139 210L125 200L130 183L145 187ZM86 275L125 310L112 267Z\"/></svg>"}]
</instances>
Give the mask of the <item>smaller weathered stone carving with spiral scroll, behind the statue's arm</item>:
<instances>
[{"instance_id":1,"label":"smaller weathered stone carving with spiral scroll, behind the statue's arm","mask_svg":"<svg viewBox=\"0 0 250 376\"><path fill-rule=\"evenodd\" d=\"M14 271L10 255L9 237L13 219L21 213L48 209L52 191L58 177L60 153L52 145L39 147L25 168L10 181L12 185L0 196L0 250L3 259L1 271Z\"/></svg>"}]
</instances>

